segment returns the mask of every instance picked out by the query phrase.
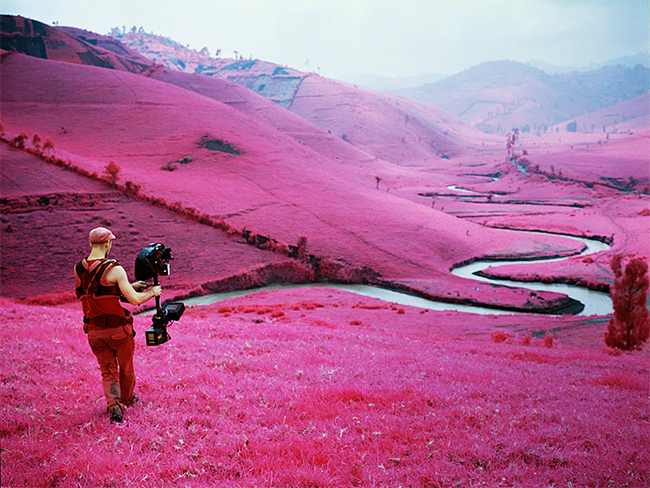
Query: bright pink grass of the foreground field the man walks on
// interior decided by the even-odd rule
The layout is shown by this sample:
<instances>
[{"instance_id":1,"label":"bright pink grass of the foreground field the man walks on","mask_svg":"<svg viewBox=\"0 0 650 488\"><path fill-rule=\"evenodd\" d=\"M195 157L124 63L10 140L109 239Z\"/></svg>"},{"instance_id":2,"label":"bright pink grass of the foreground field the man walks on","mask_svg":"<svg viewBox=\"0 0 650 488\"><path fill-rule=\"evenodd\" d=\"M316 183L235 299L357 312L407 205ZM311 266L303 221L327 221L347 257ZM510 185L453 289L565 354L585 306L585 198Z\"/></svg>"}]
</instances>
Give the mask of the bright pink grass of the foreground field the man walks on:
<instances>
[{"instance_id":1,"label":"bright pink grass of the foreground field the man walks on","mask_svg":"<svg viewBox=\"0 0 650 488\"><path fill-rule=\"evenodd\" d=\"M80 313L2 301L2 486L650 483L647 355L231 303L157 348L136 318L141 402L110 425Z\"/></svg>"}]
</instances>

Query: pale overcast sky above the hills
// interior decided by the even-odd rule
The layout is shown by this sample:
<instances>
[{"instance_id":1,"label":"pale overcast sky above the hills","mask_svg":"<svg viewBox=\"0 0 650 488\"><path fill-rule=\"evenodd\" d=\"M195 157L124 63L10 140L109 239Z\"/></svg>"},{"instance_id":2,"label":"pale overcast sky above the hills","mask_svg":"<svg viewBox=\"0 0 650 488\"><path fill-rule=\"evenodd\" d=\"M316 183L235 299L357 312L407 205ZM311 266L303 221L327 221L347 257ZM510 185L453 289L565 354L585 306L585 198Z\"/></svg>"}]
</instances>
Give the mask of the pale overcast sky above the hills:
<instances>
[{"instance_id":1,"label":"pale overcast sky above the hills","mask_svg":"<svg viewBox=\"0 0 650 488\"><path fill-rule=\"evenodd\" d=\"M4 14L336 78L454 74L484 61L586 66L649 49L650 0L3 0Z\"/></svg>"}]
</instances>

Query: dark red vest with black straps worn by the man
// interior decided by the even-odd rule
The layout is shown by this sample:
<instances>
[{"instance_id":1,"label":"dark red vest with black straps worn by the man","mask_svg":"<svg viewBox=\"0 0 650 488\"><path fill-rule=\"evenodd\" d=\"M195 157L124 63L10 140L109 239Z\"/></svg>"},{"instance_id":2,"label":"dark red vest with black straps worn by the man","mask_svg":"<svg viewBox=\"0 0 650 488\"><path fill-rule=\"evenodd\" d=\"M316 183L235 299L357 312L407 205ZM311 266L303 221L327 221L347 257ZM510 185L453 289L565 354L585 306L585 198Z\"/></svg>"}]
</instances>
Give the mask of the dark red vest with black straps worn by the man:
<instances>
[{"instance_id":1,"label":"dark red vest with black straps worn by the man","mask_svg":"<svg viewBox=\"0 0 650 488\"><path fill-rule=\"evenodd\" d=\"M114 259L97 259L90 263L82 259L75 266L77 277L75 289L77 298L81 300L84 317L91 319L98 315L118 315L125 317L129 312L120 305L120 288L112 284L101 284L106 272L113 266L119 266Z\"/></svg>"}]
</instances>

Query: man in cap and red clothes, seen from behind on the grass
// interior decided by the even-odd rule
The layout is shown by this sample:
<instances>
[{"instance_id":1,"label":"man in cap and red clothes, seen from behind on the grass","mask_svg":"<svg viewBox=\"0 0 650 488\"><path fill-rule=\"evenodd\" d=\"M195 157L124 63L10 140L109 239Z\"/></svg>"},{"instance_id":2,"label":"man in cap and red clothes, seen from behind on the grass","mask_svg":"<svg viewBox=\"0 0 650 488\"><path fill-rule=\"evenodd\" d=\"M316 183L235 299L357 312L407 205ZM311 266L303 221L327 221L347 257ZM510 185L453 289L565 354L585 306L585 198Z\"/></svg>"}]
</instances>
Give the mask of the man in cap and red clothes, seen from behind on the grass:
<instances>
[{"instance_id":1,"label":"man in cap and red clothes, seen from behind on the grass","mask_svg":"<svg viewBox=\"0 0 650 488\"><path fill-rule=\"evenodd\" d=\"M115 235L104 228L90 231L91 251L75 266L75 291L84 313L84 332L102 372L104 396L111 422L122 422L126 407L138 401L133 392L135 332L131 312L120 297L140 305L162 294L160 286L149 289L144 281L129 283L126 271L108 259Z\"/></svg>"}]
</instances>

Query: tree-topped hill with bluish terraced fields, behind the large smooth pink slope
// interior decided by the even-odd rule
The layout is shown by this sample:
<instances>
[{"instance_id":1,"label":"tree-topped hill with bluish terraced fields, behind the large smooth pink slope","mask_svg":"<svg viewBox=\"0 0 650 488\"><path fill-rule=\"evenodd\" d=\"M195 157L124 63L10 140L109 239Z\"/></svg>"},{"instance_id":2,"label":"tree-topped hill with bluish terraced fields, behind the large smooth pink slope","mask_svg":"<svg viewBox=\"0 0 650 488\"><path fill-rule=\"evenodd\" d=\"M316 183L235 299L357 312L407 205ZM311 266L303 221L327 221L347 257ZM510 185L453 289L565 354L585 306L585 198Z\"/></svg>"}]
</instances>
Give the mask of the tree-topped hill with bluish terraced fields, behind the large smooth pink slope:
<instances>
[{"instance_id":1,"label":"tree-topped hill with bluish terraced fields, behind the large smooth pink slope","mask_svg":"<svg viewBox=\"0 0 650 488\"><path fill-rule=\"evenodd\" d=\"M413 100L253 59L215 59L146 33L116 39L152 61L239 84L362 151L399 165L446 165L467 147L495 143L456 117Z\"/></svg>"}]
</instances>

